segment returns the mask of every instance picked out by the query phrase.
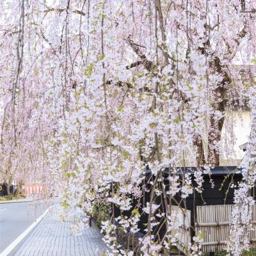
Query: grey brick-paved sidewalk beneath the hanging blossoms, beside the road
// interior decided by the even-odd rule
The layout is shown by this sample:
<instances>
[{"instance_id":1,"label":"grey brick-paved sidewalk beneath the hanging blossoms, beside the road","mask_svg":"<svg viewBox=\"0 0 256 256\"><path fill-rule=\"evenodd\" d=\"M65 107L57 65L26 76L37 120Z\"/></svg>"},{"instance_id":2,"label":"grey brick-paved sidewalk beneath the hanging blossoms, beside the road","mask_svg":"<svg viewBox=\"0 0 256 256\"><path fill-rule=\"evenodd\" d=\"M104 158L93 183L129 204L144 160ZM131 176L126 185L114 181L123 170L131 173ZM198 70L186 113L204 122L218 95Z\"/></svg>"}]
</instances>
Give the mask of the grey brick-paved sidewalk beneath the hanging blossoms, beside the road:
<instances>
[{"instance_id":1,"label":"grey brick-paved sidewalk beneath the hanging blossoms, beside the road","mask_svg":"<svg viewBox=\"0 0 256 256\"><path fill-rule=\"evenodd\" d=\"M94 223L81 236L74 236L70 221L62 222L58 214L49 212L15 256L102 256L104 250L102 234Z\"/></svg>"}]
</instances>

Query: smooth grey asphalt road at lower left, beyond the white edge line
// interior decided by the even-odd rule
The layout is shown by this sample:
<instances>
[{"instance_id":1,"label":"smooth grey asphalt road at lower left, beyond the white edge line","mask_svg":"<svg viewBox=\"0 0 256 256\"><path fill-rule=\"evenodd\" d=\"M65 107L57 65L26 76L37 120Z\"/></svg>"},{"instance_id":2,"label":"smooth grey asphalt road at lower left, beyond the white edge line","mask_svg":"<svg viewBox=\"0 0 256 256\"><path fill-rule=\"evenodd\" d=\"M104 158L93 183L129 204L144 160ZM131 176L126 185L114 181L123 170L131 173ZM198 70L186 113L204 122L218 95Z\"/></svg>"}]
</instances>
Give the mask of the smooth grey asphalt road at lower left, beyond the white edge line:
<instances>
[{"instance_id":1,"label":"smooth grey asphalt road at lower left, beyond the white edge line","mask_svg":"<svg viewBox=\"0 0 256 256\"><path fill-rule=\"evenodd\" d=\"M42 201L0 204L0 253L44 213L47 207Z\"/></svg>"}]
</instances>

